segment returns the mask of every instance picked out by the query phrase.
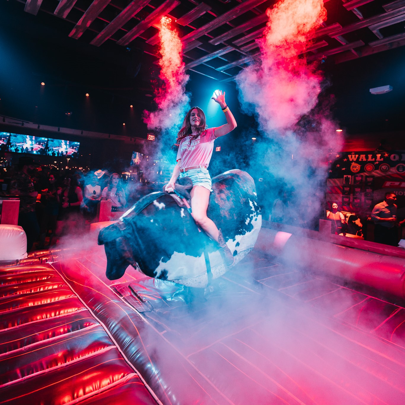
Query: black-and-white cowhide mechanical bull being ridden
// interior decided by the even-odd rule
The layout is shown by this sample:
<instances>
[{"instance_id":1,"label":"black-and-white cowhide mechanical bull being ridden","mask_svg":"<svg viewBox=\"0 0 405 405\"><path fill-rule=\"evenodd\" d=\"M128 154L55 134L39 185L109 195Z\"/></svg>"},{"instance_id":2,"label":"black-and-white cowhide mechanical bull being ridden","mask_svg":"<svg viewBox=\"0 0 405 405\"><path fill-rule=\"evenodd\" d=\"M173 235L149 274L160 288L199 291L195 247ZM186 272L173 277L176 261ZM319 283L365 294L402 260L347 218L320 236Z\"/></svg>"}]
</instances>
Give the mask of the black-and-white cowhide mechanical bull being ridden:
<instances>
[{"instance_id":1,"label":"black-and-white cowhide mechanical bull being ridden","mask_svg":"<svg viewBox=\"0 0 405 405\"><path fill-rule=\"evenodd\" d=\"M212 189L207 215L222 229L237 263L253 249L262 224L254 181L231 170L214 177ZM110 280L122 277L130 264L149 277L205 288L228 269L217 243L200 232L182 200L165 192L141 198L100 231L98 244L104 244Z\"/></svg>"}]
</instances>

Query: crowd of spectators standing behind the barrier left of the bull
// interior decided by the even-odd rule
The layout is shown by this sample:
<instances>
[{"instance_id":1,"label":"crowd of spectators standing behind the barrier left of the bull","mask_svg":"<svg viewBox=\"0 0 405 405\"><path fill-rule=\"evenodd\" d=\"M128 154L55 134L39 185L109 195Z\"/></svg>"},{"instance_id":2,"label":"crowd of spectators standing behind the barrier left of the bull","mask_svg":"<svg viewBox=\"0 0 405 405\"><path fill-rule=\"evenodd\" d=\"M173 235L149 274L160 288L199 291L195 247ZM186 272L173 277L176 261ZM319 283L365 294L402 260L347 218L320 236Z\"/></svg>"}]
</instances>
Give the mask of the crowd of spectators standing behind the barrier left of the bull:
<instances>
[{"instance_id":1,"label":"crowd of spectators standing behind the barrier left of the bull","mask_svg":"<svg viewBox=\"0 0 405 405\"><path fill-rule=\"evenodd\" d=\"M127 206L118 173L68 171L60 176L56 169L38 166L31 157L19 159L7 191L19 196L18 224L27 235L27 252L84 230L96 220L101 200L111 201L111 211L124 211Z\"/></svg>"}]
</instances>

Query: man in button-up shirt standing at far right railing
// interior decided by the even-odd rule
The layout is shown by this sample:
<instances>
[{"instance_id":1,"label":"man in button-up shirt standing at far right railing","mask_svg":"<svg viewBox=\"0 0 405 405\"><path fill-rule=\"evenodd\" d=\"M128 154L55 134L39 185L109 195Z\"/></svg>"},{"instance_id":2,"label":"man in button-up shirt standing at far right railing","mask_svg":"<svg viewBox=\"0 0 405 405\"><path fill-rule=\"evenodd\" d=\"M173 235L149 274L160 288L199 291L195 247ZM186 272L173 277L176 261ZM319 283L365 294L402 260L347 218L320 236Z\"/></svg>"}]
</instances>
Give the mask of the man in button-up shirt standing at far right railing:
<instances>
[{"instance_id":1,"label":"man in button-up shirt standing at far right railing","mask_svg":"<svg viewBox=\"0 0 405 405\"><path fill-rule=\"evenodd\" d=\"M375 224L374 242L398 246L397 225L404 224L405 220L398 222L396 219L395 201L396 195L392 192L386 192L384 201L374 206L371 212L371 219Z\"/></svg>"}]
</instances>

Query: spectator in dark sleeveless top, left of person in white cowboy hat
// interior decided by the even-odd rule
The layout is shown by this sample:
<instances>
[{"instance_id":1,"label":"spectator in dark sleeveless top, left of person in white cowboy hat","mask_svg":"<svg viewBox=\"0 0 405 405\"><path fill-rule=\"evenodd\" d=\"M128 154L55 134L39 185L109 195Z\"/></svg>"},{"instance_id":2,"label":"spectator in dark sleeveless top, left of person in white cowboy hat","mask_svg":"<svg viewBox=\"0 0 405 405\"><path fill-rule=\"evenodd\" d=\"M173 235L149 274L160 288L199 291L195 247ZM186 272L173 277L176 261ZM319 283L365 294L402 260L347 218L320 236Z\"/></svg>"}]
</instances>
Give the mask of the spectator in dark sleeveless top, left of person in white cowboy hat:
<instances>
[{"instance_id":1,"label":"spectator in dark sleeveless top, left of person in white cowboy hat","mask_svg":"<svg viewBox=\"0 0 405 405\"><path fill-rule=\"evenodd\" d=\"M59 200L61 202L58 214L57 234L74 230L82 226L82 215L80 206L83 201L83 192L79 187L79 181L76 175L66 175L64 187L58 190Z\"/></svg>"}]
</instances>

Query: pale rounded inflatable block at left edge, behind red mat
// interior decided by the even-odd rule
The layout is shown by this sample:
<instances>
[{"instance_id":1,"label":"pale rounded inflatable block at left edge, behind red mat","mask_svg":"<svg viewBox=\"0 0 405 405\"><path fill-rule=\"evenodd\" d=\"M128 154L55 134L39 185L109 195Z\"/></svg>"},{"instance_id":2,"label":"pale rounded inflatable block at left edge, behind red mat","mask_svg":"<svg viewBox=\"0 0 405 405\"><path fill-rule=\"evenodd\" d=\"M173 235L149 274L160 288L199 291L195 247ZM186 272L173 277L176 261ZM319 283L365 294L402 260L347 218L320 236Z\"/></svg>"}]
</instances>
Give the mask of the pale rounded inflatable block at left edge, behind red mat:
<instances>
[{"instance_id":1,"label":"pale rounded inflatable block at left edge, behind red mat","mask_svg":"<svg viewBox=\"0 0 405 405\"><path fill-rule=\"evenodd\" d=\"M0 262L27 257L27 236L18 225L0 225Z\"/></svg>"}]
</instances>

